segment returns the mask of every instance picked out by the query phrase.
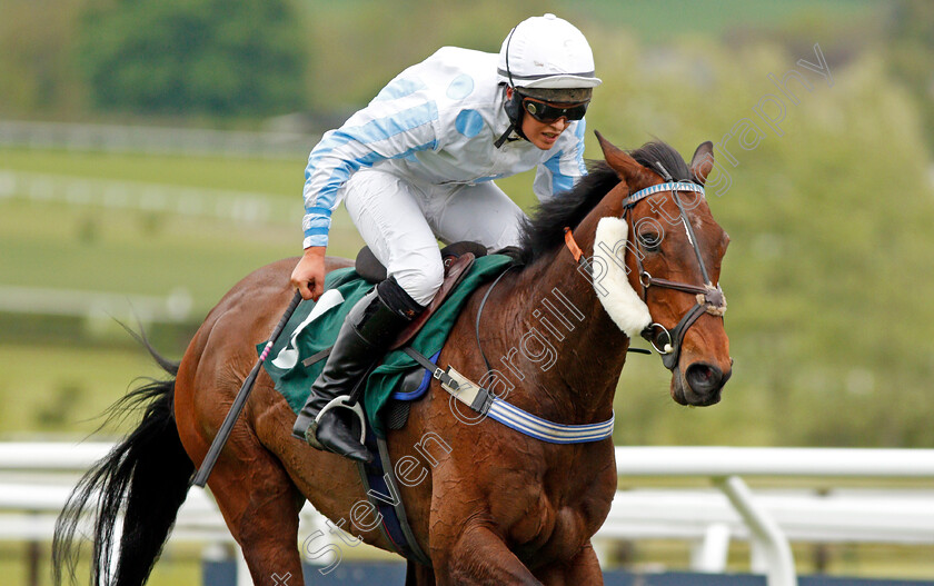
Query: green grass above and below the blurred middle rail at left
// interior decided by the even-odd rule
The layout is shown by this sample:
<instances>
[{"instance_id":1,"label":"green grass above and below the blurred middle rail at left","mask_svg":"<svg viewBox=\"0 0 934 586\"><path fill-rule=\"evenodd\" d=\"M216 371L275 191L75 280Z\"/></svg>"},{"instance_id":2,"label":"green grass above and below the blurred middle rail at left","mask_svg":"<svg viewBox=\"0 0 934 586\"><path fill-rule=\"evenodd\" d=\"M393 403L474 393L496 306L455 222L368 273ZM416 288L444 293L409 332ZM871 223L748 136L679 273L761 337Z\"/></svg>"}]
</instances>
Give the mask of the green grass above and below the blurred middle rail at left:
<instances>
[{"instance_id":1,"label":"green grass above and below the blurred middle rail at left","mask_svg":"<svg viewBox=\"0 0 934 586\"><path fill-rule=\"evenodd\" d=\"M77 159L72 161L71 158ZM281 183L279 161L236 161L102 153L2 151L0 170L56 170L86 177L179 187L254 188ZM231 179L231 175L235 176ZM249 181L242 178L250 177ZM235 180L236 179L236 180ZM248 272L301 254L301 178L290 224L241 224L167 212L69 206L13 198L0 201L0 284L165 296L183 289L203 314ZM342 210L335 215L335 255L354 255L360 239Z\"/></svg>"}]
</instances>

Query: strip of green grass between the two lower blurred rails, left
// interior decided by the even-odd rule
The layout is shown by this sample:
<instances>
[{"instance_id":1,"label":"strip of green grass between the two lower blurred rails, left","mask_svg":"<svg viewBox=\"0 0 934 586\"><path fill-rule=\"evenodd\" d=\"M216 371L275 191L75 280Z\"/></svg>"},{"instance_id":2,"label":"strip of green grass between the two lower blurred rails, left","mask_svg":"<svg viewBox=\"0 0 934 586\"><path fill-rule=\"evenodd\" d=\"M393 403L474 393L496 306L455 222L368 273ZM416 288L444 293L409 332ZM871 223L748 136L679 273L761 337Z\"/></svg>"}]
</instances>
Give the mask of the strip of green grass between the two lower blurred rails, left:
<instances>
[{"instance_id":1,"label":"strip of green grass between the two lower blurred rails, left","mask_svg":"<svg viewBox=\"0 0 934 586\"><path fill-rule=\"evenodd\" d=\"M3 208L3 285L157 296L185 289L205 309L254 269L301 252L297 228L22 201Z\"/></svg>"}]
</instances>

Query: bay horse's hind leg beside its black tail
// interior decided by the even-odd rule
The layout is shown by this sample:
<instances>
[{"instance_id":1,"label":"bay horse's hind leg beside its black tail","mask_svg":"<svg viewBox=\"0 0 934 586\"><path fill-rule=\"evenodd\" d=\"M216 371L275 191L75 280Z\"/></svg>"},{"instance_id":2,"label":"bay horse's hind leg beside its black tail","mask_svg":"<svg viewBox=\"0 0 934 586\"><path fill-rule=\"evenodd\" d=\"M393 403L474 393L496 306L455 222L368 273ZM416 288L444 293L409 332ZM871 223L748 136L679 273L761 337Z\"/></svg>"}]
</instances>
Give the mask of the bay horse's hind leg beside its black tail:
<instances>
[{"instance_id":1,"label":"bay horse's hind leg beside its black tail","mask_svg":"<svg viewBox=\"0 0 934 586\"><path fill-rule=\"evenodd\" d=\"M257 586L301 584L298 513L305 498L268 454L218 464L209 485Z\"/></svg>"}]
</instances>

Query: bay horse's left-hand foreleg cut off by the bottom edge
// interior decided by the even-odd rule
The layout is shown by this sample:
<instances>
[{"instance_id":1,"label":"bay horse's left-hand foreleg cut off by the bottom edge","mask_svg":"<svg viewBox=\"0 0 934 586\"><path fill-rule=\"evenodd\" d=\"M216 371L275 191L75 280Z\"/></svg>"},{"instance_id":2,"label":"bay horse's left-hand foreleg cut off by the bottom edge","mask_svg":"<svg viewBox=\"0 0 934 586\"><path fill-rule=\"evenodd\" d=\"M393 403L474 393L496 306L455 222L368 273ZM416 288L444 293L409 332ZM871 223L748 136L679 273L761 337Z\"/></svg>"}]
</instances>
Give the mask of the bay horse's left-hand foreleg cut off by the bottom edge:
<instances>
[{"instance_id":1,"label":"bay horse's left-hand foreleg cut off by the bottom edge","mask_svg":"<svg viewBox=\"0 0 934 586\"><path fill-rule=\"evenodd\" d=\"M488 584L541 586L503 539L483 525L466 527L453 547L436 546L433 536L431 559L439 586L448 584Z\"/></svg>"}]
</instances>

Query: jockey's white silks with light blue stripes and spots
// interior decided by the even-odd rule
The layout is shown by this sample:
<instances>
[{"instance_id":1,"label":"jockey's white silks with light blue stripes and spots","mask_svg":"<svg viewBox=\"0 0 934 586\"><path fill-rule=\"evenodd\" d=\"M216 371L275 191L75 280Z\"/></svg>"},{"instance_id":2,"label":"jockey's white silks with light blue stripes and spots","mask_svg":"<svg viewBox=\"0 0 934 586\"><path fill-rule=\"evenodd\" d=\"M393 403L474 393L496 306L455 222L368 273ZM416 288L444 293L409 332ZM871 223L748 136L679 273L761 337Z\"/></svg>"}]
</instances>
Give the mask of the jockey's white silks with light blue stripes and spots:
<instances>
[{"instance_id":1,"label":"jockey's white silks with light blue stripes and spots","mask_svg":"<svg viewBox=\"0 0 934 586\"><path fill-rule=\"evenodd\" d=\"M441 48L403 71L344 126L326 132L305 171L305 248L327 246L341 187L366 167L453 187L537 167L533 189L539 200L570 189L586 173L584 120L570 122L549 150L525 140L494 147L509 126L497 59L495 53Z\"/></svg>"}]
</instances>

